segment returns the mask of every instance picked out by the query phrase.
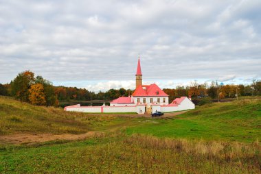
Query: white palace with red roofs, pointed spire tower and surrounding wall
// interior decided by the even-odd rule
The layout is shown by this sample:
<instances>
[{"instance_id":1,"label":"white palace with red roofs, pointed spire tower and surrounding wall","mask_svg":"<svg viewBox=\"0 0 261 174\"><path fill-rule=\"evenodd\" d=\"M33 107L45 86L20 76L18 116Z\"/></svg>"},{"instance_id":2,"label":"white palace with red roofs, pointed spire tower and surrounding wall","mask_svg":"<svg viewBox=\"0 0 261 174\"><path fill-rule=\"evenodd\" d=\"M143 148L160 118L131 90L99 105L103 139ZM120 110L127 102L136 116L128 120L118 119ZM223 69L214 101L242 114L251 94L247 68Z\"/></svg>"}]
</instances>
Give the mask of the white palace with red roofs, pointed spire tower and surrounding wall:
<instances>
[{"instance_id":1,"label":"white palace with red roofs, pointed spire tower and surrounding wall","mask_svg":"<svg viewBox=\"0 0 261 174\"><path fill-rule=\"evenodd\" d=\"M138 114L151 114L156 111L175 112L179 110L191 110L194 103L188 97L174 99L169 103L168 95L157 84L142 84L141 63L138 59L136 88L133 95L119 97L111 101L109 106L80 106L70 105L65 107L67 111L78 112L137 112Z\"/></svg>"}]
</instances>

